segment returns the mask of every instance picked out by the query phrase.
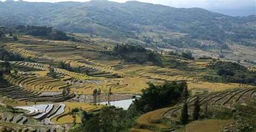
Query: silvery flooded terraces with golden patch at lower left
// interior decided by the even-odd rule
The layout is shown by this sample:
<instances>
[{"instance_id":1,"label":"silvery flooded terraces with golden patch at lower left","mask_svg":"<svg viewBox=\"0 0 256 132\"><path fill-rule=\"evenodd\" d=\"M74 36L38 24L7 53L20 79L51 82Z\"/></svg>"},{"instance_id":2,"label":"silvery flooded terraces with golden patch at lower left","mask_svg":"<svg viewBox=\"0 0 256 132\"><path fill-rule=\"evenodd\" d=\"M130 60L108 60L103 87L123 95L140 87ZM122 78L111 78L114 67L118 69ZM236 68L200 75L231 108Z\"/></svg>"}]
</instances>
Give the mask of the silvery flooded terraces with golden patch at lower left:
<instances>
[{"instance_id":1,"label":"silvery flooded terraces with golden patch at lower left","mask_svg":"<svg viewBox=\"0 0 256 132\"><path fill-rule=\"evenodd\" d=\"M87 104L71 105L70 102L16 106L15 108L24 109L26 112L22 114L1 112L0 126L11 127L15 130L63 131L66 130L65 126L59 124L72 122L72 117L70 117L69 111L66 109L78 106L86 109L86 111L93 112L99 111L99 108L102 107ZM69 128L70 126L66 127Z\"/></svg>"}]
</instances>

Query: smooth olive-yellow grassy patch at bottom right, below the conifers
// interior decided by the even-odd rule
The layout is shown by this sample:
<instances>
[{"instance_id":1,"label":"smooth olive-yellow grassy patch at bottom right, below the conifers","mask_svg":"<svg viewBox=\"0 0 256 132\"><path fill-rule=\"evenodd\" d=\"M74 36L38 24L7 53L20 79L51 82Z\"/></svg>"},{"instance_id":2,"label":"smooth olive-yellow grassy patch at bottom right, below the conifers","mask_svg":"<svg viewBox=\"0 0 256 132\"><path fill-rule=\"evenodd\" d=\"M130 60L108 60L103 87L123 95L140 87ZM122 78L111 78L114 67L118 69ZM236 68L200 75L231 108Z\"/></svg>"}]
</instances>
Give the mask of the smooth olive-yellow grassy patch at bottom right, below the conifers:
<instances>
[{"instance_id":1,"label":"smooth olive-yellow grassy patch at bottom right, below the conifers","mask_svg":"<svg viewBox=\"0 0 256 132\"><path fill-rule=\"evenodd\" d=\"M235 120L204 120L204 121L195 121L187 125L186 132L215 132L219 131L221 126L226 126L228 124L234 123Z\"/></svg>"}]
</instances>

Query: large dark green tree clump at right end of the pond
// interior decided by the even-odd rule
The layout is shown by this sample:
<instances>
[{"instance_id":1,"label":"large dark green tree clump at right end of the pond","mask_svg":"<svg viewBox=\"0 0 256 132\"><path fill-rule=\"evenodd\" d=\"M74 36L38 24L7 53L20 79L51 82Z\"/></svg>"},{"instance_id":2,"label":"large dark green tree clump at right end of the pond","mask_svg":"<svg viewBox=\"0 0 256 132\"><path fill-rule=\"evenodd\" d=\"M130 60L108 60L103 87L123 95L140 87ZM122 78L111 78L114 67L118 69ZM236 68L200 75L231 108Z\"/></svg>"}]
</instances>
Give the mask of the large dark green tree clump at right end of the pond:
<instances>
[{"instance_id":1,"label":"large dark green tree clump at right end of the pond","mask_svg":"<svg viewBox=\"0 0 256 132\"><path fill-rule=\"evenodd\" d=\"M175 104L181 96L187 98L186 82L165 82L163 85L148 83L149 88L142 91L140 98L134 100L137 111L149 112L159 107Z\"/></svg>"}]
</instances>

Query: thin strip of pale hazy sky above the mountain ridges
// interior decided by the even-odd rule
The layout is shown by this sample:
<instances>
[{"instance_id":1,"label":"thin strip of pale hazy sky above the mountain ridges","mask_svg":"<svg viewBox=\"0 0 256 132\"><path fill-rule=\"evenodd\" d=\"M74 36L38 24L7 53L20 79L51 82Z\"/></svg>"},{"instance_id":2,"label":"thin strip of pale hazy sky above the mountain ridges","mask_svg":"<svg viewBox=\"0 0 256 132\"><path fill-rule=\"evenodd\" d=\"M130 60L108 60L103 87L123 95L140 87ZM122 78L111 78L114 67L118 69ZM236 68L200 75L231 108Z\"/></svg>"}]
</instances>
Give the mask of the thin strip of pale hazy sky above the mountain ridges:
<instances>
[{"instance_id":1,"label":"thin strip of pale hazy sky above the mountain ridges","mask_svg":"<svg viewBox=\"0 0 256 132\"><path fill-rule=\"evenodd\" d=\"M2 0L4 1L4 0ZM24 0L29 2L62 2L77 1L86 2L89 0ZM126 2L127 0L110 0L114 2ZM138 0L140 2L169 5L176 8L204 8L204 9L240 9L254 6L256 0Z\"/></svg>"}]
</instances>

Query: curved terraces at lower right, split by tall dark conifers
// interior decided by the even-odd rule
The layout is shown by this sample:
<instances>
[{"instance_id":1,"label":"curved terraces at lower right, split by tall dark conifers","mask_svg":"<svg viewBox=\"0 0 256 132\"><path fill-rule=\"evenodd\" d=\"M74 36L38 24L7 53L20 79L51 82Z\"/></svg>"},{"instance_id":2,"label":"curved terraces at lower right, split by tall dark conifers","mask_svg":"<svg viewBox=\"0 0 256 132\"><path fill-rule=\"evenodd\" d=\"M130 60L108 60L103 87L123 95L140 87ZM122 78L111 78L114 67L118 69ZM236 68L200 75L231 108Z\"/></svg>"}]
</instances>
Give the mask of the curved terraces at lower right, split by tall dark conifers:
<instances>
[{"instance_id":1,"label":"curved terraces at lower right, split by tall dark conifers","mask_svg":"<svg viewBox=\"0 0 256 132\"><path fill-rule=\"evenodd\" d=\"M194 104L194 100L196 100L197 97L199 97L200 105L201 105L200 107L202 109L205 108L206 105L208 108L218 108L220 106L224 106L227 108L234 108L235 104L248 105L253 101L255 102L256 87L253 87L250 89L240 88L240 89L212 92L209 94L193 95L189 97L186 101L188 104L188 114L190 115L192 115L193 113L193 108L194 108L193 104ZM178 124L182 104L183 102L179 102L173 107L161 108L161 109L157 109L156 111L143 114L138 118L138 121L137 121L138 125L135 128L131 129L131 131L174 130L174 128L172 128L170 124ZM216 121L218 122L218 120ZM221 124L219 124L219 126L221 126Z\"/></svg>"}]
</instances>

